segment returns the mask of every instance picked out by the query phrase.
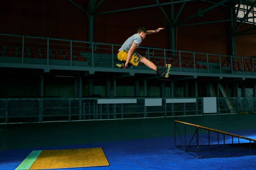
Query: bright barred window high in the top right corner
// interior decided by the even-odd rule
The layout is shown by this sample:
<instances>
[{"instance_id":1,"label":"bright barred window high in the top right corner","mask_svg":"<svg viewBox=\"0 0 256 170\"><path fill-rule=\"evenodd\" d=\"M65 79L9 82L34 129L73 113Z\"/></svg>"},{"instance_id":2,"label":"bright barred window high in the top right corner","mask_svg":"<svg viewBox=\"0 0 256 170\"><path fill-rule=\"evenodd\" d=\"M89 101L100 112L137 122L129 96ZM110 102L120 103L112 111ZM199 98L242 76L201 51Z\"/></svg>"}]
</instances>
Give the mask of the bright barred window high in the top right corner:
<instances>
[{"instance_id":1,"label":"bright barred window high in the top right corner","mask_svg":"<svg viewBox=\"0 0 256 170\"><path fill-rule=\"evenodd\" d=\"M238 8L238 4L236 4L236 11ZM244 15L247 13L247 11L250 9L250 6L242 5L239 8L238 18L243 18ZM253 8L252 11L248 14L247 17L254 17L256 16L256 8ZM241 20L237 20L237 22L240 22ZM243 21L244 23L250 23L250 24L256 24L256 18L250 18Z\"/></svg>"}]
</instances>

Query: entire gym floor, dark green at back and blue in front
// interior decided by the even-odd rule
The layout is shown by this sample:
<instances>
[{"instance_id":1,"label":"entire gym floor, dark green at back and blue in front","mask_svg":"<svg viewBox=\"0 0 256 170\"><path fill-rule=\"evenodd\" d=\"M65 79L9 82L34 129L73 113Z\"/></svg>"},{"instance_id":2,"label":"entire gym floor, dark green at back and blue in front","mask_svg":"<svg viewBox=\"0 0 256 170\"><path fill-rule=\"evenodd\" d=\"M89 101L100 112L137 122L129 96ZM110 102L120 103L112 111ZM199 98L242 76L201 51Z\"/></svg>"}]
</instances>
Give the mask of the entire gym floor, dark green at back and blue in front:
<instances>
[{"instance_id":1,"label":"entire gym floor, dark green at back and blue in front","mask_svg":"<svg viewBox=\"0 0 256 170\"><path fill-rule=\"evenodd\" d=\"M174 120L180 120L256 139L255 118L256 114L234 114L4 125L1 128L8 130L9 144L0 151L0 170L15 170L32 150L93 147L102 147L110 166L64 170L253 170L255 156L197 159L177 149L173 127ZM63 125L62 130L59 125ZM187 130L191 135L193 130ZM199 140L207 143L208 138L202 134Z\"/></svg>"}]
</instances>

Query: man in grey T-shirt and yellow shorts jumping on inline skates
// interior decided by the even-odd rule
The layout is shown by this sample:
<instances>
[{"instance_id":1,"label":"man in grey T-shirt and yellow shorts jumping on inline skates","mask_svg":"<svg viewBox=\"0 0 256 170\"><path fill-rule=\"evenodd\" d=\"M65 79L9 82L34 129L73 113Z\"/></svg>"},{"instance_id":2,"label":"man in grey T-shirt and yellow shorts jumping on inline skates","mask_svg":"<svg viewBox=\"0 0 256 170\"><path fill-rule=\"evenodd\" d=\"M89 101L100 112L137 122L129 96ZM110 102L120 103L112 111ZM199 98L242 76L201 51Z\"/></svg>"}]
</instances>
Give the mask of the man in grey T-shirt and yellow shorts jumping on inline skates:
<instances>
[{"instance_id":1,"label":"man in grey T-shirt and yellow shorts jumping on inline skates","mask_svg":"<svg viewBox=\"0 0 256 170\"><path fill-rule=\"evenodd\" d=\"M154 65L153 62L149 61L145 57L142 57L140 54L134 53L135 48L139 47L142 40L145 39L147 34L153 34L161 31L163 28L158 28L156 30L147 31L145 28L141 27L138 29L137 34L129 37L118 50L117 58L122 64L116 64L121 68L129 68L132 65L137 66L139 62L145 64L148 68L156 71L156 74L163 76L166 71L166 67L159 68Z\"/></svg>"}]
</instances>

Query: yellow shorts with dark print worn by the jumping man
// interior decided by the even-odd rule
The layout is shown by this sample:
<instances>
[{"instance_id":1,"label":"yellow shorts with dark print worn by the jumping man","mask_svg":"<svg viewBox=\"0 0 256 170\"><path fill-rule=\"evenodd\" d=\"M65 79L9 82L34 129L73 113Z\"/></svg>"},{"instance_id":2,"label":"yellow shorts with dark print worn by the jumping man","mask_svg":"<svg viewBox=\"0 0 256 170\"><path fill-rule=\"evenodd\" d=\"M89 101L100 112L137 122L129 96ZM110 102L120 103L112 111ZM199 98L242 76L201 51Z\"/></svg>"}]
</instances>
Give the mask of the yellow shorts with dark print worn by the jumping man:
<instances>
[{"instance_id":1,"label":"yellow shorts with dark print worn by the jumping man","mask_svg":"<svg viewBox=\"0 0 256 170\"><path fill-rule=\"evenodd\" d=\"M119 53L117 54L117 58L122 62L122 61L126 61L127 60L127 56L128 56L128 50L121 50L119 51ZM141 55L138 53L132 53L131 54L131 58L129 60L129 63L131 63L132 65L137 66L140 62L141 59Z\"/></svg>"}]
</instances>

